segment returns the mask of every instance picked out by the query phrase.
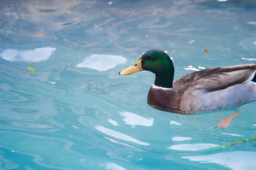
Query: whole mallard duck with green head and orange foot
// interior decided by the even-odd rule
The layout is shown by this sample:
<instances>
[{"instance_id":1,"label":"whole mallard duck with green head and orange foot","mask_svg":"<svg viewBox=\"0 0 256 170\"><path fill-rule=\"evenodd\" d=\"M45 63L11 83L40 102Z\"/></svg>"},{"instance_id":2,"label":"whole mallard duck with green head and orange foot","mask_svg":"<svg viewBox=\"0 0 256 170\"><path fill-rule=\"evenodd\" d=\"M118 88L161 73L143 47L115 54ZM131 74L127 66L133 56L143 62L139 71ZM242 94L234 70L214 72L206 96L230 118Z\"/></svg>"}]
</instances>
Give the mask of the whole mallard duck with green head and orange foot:
<instances>
[{"instance_id":1,"label":"whole mallard duck with green head and orange foot","mask_svg":"<svg viewBox=\"0 0 256 170\"><path fill-rule=\"evenodd\" d=\"M147 103L153 108L185 115L237 109L235 114L218 120L216 128L226 128L241 113L239 106L256 100L256 64L203 69L174 81L174 64L169 55L149 50L119 75L143 70L156 74L147 96Z\"/></svg>"}]
</instances>

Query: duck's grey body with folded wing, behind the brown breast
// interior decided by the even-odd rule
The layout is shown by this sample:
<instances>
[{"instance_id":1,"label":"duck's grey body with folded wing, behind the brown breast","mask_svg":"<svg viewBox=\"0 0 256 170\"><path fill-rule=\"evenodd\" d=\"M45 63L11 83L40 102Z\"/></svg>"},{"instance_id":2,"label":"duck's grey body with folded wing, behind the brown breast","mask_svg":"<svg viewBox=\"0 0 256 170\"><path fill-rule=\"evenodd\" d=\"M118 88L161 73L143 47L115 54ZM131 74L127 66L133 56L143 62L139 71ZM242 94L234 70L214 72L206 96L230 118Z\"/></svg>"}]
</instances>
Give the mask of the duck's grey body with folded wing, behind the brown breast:
<instances>
[{"instance_id":1,"label":"duck's grey body with folded wing, behind the brown breast","mask_svg":"<svg viewBox=\"0 0 256 170\"><path fill-rule=\"evenodd\" d=\"M256 64L204 69L174 81L174 89L188 113L236 108L255 101L255 72Z\"/></svg>"}]
</instances>

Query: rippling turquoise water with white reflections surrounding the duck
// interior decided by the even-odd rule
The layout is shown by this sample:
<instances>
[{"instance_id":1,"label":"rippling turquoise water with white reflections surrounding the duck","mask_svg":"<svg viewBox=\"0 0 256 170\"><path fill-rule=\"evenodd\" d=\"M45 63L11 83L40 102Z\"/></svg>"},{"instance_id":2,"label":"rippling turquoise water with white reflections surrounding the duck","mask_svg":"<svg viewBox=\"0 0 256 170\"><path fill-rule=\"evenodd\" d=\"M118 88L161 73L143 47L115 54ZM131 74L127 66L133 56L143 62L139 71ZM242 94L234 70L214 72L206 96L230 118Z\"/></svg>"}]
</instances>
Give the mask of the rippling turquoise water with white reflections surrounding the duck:
<instances>
[{"instance_id":1,"label":"rippling turquoise water with white reflections surrounding the duck","mask_svg":"<svg viewBox=\"0 0 256 170\"><path fill-rule=\"evenodd\" d=\"M255 1L1 1L0 16L0 169L255 169L252 141L214 151L256 136L255 103L214 129L234 111L158 111L154 74L118 75L151 49L175 79L255 62Z\"/></svg>"}]
</instances>

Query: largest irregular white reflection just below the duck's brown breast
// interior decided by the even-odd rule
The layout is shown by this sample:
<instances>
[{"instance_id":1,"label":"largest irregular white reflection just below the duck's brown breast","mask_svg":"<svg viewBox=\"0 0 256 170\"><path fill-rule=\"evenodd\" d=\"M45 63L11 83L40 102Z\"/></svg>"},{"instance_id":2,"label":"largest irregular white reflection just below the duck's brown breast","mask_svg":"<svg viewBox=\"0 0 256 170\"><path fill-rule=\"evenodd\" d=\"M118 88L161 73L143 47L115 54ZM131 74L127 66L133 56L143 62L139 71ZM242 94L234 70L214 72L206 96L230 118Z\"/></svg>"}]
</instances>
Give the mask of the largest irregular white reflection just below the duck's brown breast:
<instances>
[{"instance_id":1,"label":"largest irregular white reflection just below the duck's brown breast","mask_svg":"<svg viewBox=\"0 0 256 170\"><path fill-rule=\"evenodd\" d=\"M151 126L154 124L154 119L152 118L144 118L140 115L136 115L134 113L129 112L120 112L120 115L124 116L124 122L127 125L143 125L143 126Z\"/></svg>"}]
</instances>

